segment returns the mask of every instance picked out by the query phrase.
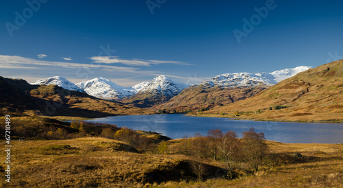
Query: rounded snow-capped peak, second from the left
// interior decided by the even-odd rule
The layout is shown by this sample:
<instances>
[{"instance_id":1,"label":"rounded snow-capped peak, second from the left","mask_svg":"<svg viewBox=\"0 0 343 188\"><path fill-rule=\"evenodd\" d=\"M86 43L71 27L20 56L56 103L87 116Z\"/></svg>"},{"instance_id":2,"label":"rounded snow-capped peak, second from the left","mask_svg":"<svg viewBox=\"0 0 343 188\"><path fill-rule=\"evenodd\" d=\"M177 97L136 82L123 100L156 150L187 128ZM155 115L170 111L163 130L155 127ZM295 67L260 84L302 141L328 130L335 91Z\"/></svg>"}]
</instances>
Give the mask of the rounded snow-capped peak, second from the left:
<instances>
[{"instance_id":1,"label":"rounded snow-capped peak, second from the left","mask_svg":"<svg viewBox=\"0 0 343 188\"><path fill-rule=\"evenodd\" d=\"M137 93L136 89L119 86L106 78L94 78L76 85L88 95L100 99L123 99Z\"/></svg>"}]
</instances>

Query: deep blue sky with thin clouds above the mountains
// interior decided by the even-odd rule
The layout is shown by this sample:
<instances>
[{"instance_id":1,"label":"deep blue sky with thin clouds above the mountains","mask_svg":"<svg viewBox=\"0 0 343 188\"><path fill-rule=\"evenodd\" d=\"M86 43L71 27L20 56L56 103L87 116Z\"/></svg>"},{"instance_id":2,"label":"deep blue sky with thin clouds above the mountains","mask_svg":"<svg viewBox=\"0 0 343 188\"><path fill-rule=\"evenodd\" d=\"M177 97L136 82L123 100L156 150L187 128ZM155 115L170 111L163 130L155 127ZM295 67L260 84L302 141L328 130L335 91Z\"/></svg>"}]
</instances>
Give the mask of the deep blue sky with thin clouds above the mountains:
<instances>
[{"instance_id":1,"label":"deep blue sky with thin clouds above the mountains","mask_svg":"<svg viewBox=\"0 0 343 188\"><path fill-rule=\"evenodd\" d=\"M0 75L132 86L161 74L196 83L317 67L343 58L342 8L339 0L5 0Z\"/></svg>"}]
</instances>

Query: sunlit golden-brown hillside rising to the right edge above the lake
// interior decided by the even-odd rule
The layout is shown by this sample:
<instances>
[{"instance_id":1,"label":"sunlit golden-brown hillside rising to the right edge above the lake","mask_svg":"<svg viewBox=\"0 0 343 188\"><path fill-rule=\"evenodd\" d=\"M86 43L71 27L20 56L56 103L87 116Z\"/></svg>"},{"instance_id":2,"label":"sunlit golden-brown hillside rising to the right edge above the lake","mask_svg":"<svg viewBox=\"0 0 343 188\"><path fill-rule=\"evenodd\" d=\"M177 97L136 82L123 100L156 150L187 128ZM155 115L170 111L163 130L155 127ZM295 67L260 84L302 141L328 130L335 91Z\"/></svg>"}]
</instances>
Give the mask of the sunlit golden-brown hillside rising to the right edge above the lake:
<instances>
[{"instance_id":1,"label":"sunlit golden-brown hillside rising to the right edge above the lake","mask_svg":"<svg viewBox=\"0 0 343 188\"><path fill-rule=\"evenodd\" d=\"M289 121L343 120L343 60L298 73L254 97L204 115Z\"/></svg>"}]
</instances>

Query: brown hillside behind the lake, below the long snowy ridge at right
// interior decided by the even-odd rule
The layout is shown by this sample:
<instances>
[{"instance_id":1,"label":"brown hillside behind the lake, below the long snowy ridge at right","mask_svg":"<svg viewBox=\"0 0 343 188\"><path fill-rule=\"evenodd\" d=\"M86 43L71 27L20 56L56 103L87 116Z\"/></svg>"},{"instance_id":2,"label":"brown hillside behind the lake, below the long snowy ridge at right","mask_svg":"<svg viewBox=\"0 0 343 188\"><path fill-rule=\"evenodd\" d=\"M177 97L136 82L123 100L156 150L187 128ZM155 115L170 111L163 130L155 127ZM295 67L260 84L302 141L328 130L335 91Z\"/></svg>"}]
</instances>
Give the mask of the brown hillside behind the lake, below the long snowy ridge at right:
<instances>
[{"instance_id":1,"label":"brown hillside behind the lake, below the long snowy ridge at right","mask_svg":"<svg viewBox=\"0 0 343 188\"><path fill-rule=\"evenodd\" d=\"M191 86L183 90L180 94L169 99L168 102L153 106L152 109L165 110L198 110L200 108L213 108L214 106L223 106L246 99L262 91L263 87L237 87L223 88L198 85Z\"/></svg>"}]
</instances>

